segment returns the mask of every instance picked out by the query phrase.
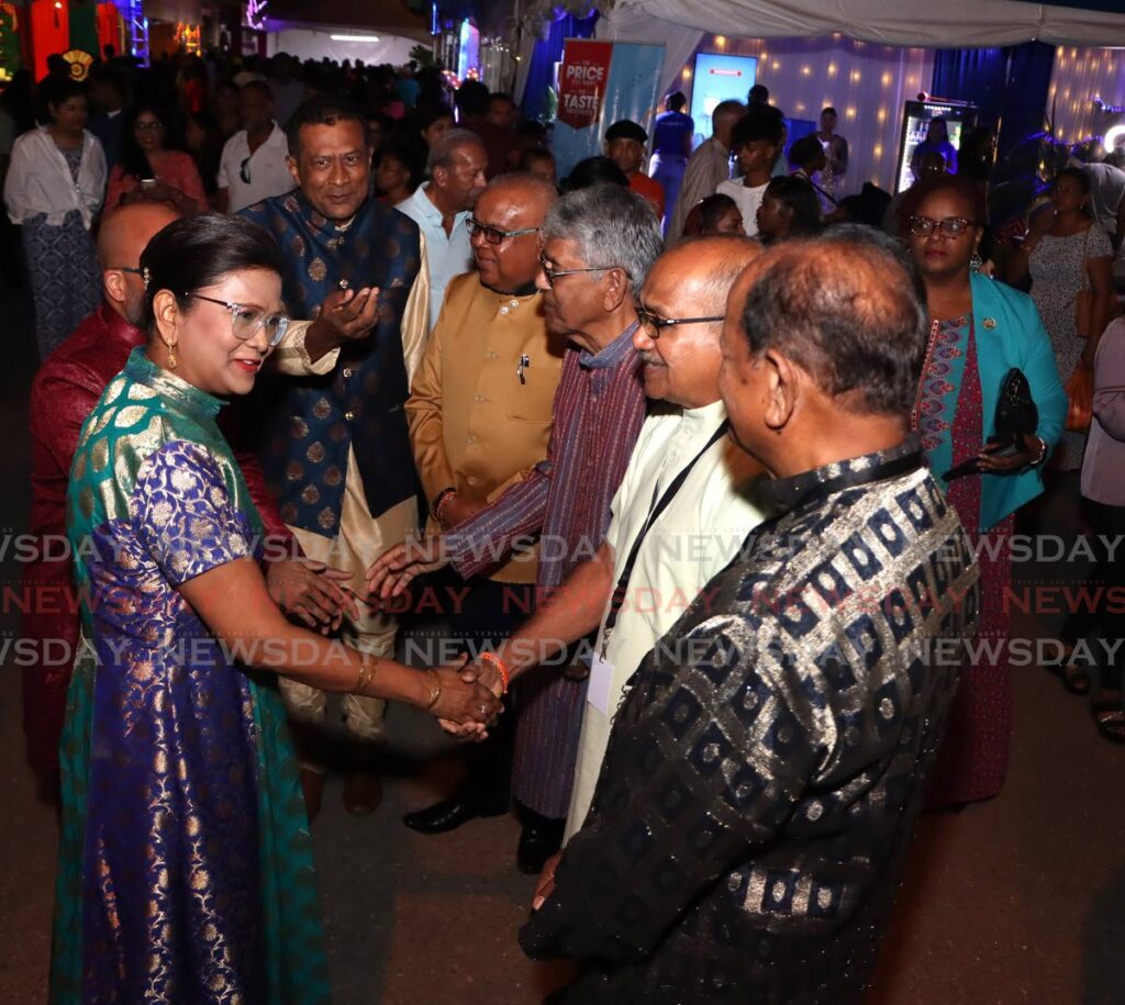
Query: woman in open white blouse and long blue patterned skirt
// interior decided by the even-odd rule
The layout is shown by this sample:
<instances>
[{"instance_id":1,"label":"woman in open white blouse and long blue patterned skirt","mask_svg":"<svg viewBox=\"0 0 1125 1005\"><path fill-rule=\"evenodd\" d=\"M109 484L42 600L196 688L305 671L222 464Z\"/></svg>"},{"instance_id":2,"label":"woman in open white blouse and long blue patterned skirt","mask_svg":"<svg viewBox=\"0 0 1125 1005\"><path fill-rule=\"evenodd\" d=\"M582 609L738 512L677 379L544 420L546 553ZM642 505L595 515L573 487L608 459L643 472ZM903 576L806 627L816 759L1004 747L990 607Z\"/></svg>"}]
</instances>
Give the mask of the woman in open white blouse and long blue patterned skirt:
<instances>
[{"instance_id":1,"label":"woman in open white blouse and long blue patterned skirt","mask_svg":"<svg viewBox=\"0 0 1125 1005\"><path fill-rule=\"evenodd\" d=\"M106 191L106 156L86 129L86 91L71 80L45 87L51 121L16 141L3 187L8 216L22 228L40 360L101 300L90 227Z\"/></svg>"}]
</instances>

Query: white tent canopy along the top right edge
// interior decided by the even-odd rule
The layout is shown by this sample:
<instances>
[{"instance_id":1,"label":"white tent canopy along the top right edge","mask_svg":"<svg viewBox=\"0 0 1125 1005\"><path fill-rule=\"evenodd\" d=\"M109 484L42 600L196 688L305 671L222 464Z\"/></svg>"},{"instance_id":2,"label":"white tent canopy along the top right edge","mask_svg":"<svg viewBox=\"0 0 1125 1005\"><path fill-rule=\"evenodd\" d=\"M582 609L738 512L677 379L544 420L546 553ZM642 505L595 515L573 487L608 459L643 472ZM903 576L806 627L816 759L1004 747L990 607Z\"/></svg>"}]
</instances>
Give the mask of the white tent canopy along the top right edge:
<instances>
[{"instance_id":1,"label":"white tent canopy along the top right edge","mask_svg":"<svg viewBox=\"0 0 1125 1005\"><path fill-rule=\"evenodd\" d=\"M1047 42L1125 46L1125 17L1022 0L619 0L597 37L664 45L663 87L705 33L794 38L840 33L880 45L965 48Z\"/></svg>"}]
</instances>

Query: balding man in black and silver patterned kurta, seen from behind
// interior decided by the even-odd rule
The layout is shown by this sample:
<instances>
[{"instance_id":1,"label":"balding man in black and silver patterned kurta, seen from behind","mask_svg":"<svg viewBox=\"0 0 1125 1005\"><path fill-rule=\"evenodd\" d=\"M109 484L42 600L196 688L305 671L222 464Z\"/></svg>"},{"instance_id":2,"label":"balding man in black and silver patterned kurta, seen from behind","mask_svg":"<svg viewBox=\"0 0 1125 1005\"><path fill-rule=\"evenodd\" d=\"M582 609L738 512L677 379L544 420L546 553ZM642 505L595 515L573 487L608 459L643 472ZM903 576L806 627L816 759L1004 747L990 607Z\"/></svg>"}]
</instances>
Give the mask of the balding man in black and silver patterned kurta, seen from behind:
<instances>
[{"instance_id":1,"label":"balding man in black and silver patterned kurta, seen from behind","mask_svg":"<svg viewBox=\"0 0 1125 1005\"><path fill-rule=\"evenodd\" d=\"M720 388L781 515L630 681L593 807L521 942L567 1003L858 1003L976 609L908 436L912 268L838 228L731 292Z\"/></svg>"}]
</instances>

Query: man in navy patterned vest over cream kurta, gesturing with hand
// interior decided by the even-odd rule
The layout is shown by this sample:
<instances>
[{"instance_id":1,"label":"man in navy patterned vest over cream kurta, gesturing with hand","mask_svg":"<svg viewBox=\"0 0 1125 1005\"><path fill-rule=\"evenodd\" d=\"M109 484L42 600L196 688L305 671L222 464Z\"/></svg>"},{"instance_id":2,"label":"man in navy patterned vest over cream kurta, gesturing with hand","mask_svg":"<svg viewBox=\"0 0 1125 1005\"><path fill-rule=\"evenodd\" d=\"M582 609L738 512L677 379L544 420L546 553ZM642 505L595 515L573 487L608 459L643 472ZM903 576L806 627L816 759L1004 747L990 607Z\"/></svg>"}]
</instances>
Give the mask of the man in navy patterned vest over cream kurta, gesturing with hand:
<instances>
[{"instance_id":1,"label":"man in navy patterned vest over cream kurta, gesturing with hand","mask_svg":"<svg viewBox=\"0 0 1125 1005\"><path fill-rule=\"evenodd\" d=\"M364 558L417 529L414 459L403 405L425 339L429 281L417 225L369 198L370 151L362 114L327 98L289 120L289 170L297 189L242 216L277 238L284 292L297 326L279 351L281 374L258 395L259 449L281 516L309 558L330 560L362 582ZM291 375L300 374L300 375ZM389 655L395 621L370 607L345 623L349 641ZM309 816L324 769L316 753L326 698L282 680L303 758ZM348 696L343 715L364 741L344 784L353 815L379 803L371 744L384 735L386 703Z\"/></svg>"}]
</instances>

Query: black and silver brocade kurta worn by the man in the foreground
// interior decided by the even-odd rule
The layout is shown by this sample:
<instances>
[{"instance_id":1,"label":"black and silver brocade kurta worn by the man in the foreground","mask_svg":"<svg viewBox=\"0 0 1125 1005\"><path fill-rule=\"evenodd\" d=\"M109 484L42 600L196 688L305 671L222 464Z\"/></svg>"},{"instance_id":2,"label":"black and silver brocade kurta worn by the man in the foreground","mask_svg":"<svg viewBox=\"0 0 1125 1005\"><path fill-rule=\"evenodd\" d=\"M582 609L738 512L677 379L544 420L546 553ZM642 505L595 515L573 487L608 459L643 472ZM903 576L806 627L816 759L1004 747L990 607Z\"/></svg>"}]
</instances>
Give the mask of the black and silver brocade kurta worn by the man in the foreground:
<instances>
[{"instance_id":1,"label":"black and silver brocade kurta worn by the man in the foreground","mask_svg":"<svg viewBox=\"0 0 1125 1005\"><path fill-rule=\"evenodd\" d=\"M863 997L956 688L976 565L917 444L791 507L649 653L521 932L566 1002Z\"/></svg>"}]
</instances>

